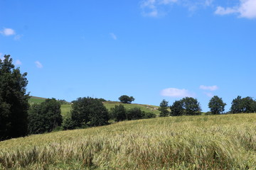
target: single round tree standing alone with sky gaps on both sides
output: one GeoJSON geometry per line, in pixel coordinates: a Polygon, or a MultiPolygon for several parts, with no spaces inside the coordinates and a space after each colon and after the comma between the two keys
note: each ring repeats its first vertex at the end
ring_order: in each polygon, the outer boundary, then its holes
{"type": "Polygon", "coordinates": [[[210,101],[208,103],[210,112],[213,115],[219,115],[220,113],[223,113],[225,111],[226,105],[227,104],[223,102],[222,98],[219,98],[218,96],[213,96],[212,98],[210,98],[210,101]]]}

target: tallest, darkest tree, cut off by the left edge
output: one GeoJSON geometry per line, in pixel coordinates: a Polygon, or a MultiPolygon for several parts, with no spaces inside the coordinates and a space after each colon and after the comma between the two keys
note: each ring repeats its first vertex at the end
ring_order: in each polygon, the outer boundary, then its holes
{"type": "Polygon", "coordinates": [[[21,74],[10,55],[0,59],[0,140],[27,135],[28,99],[27,73],[21,74]]]}

